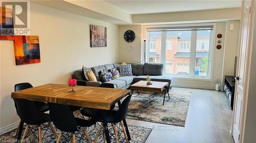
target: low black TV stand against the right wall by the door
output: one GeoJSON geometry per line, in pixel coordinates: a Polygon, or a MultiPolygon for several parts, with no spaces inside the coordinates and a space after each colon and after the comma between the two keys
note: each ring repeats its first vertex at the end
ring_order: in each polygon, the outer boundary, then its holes
{"type": "Polygon", "coordinates": [[[225,75],[224,86],[223,86],[224,93],[226,94],[228,100],[230,101],[231,110],[233,110],[234,86],[236,84],[235,82],[236,80],[233,80],[233,79],[234,79],[234,76],[225,75]]]}

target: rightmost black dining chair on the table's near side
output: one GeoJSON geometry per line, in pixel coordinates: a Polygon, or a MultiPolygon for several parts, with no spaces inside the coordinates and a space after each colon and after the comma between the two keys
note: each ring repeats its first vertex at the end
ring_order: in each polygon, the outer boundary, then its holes
{"type": "MultiPolygon", "coordinates": [[[[119,109],[117,111],[116,110],[105,110],[105,115],[104,115],[106,117],[105,122],[112,124],[112,126],[114,128],[114,131],[115,131],[116,142],[118,142],[118,133],[117,133],[117,128],[116,128],[117,123],[120,123],[120,125],[121,125],[121,128],[122,128],[122,131],[123,131],[126,142],[129,142],[129,139],[127,137],[126,130],[124,128],[124,125],[123,125],[122,121],[125,119],[126,112],[127,112],[131,97],[132,97],[132,95],[127,96],[123,100],[121,105],[119,105],[119,109]]],[[[103,122],[104,122],[103,117],[104,116],[103,116],[103,112],[98,111],[97,115],[95,115],[91,119],[92,121],[95,121],[95,122],[101,122],[100,129],[98,130],[98,132],[96,134],[96,138],[95,138],[94,142],[97,141],[100,132],[101,131],[104,132],[103,131],[103,122]]]]}

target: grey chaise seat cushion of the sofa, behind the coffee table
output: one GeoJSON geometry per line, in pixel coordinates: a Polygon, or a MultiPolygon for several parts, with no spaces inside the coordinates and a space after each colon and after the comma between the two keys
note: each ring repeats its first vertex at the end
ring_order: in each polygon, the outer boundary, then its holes
{"type": "MultiPolygon", "coordinates": [[[[133,82],[138,82],[140,80],[146,80],[146,75],[140,75],[140,76],[136,76],[133,78],[133,82]]],[[[162,81],[162,82],[169,82],[169,87],[172,86],[173,84],[173,80],[174,80],[174,76],[172,75],[153,75],[150,76],[152,81],[162,81]]]]}

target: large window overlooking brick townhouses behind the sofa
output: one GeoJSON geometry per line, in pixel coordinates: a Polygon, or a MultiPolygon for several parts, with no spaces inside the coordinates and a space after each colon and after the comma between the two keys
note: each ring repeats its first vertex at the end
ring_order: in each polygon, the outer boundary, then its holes
{"type": "Polygon", "coordinates": [[[184,29],[182,27],[173,29],[163,27],[163,30],[161,27],[147,28],[147,35],[150,36],[150,40],[147,41],[147,61],[165,64],[165,74],[211,78],[214,24],[194,25],[185,26],[184,29]],[[151,43],[154,42],[157,44],[153,51],[151,48],[154,44],[151,43]]]}

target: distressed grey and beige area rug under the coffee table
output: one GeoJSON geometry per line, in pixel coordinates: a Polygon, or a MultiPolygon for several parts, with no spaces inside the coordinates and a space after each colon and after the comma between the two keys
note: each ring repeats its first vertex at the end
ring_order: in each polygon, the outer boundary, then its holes
{"type": "Polygon", "coordinates": [[[126,114],[127,119],[140,120],[168,124],[174,126],[185,126],[191,92],[184,89],[173,88],[165,96],[164,92],[153,93],[148,91],[134,91],[129,109],[126,114]]]}

